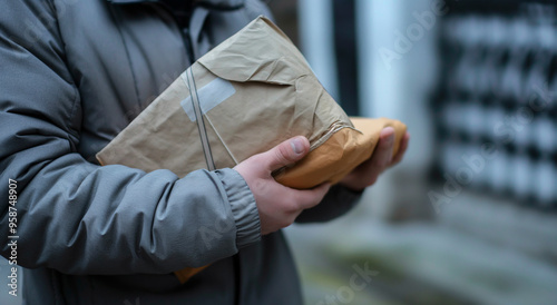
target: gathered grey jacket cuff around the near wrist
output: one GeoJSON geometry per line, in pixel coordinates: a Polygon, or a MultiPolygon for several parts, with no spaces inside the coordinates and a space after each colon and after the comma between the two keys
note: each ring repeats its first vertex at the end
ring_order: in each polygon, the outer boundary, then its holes
{"type": "Polygon", "coordinates": [[[242,248],[258,242],[261,239],[260,213],[252,190],[234,169],[219,169],[216,174],[228,196],[232,215],[236,223],[236,246],[242,248]]]}

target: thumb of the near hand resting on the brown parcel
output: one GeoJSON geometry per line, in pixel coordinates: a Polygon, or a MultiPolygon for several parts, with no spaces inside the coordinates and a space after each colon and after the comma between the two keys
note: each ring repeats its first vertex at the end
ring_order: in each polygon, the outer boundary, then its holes
{"type": "Polygon", "coordinates": [[[299,136],[261,154],[261,158],[263,166],[268,171],[274,171],[302,159],[307,152],[310,152],[310,141],[305,137],[299,136]]]}

